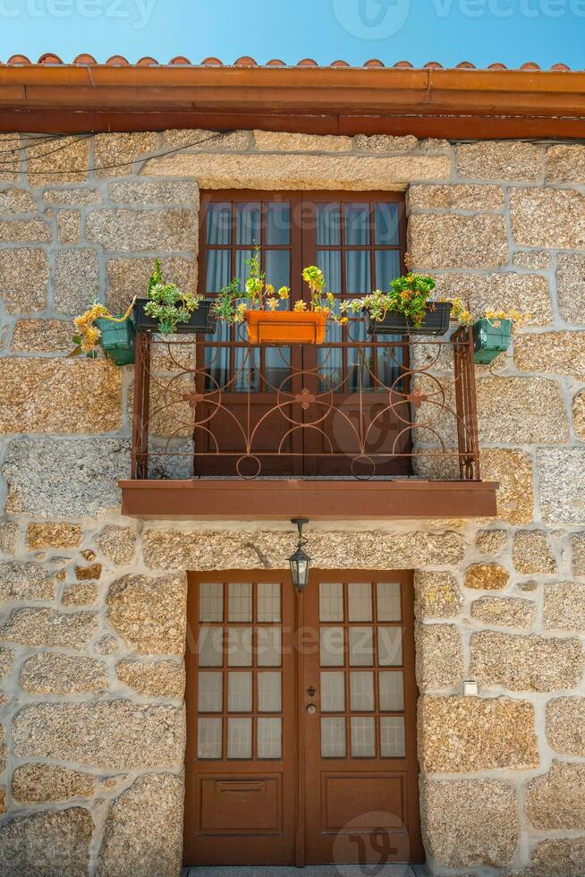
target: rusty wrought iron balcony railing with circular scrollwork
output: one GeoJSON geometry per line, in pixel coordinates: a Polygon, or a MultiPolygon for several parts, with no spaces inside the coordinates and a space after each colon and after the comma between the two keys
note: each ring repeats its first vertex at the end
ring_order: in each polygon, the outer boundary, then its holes
{"type": "Polygon", "coordinates": [[[139,334],[132,478],[270,476],[479,481],[471,329],[290,347],[139,334]]]}

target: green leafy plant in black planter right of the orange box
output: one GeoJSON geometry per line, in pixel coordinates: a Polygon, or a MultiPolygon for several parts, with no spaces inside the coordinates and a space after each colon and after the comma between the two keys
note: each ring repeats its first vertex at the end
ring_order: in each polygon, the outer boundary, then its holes
{"type": "Polygon", "coordinates": [[[428,296],[436,285],[432,277],[407,274],[392,280],[387,293],[375,289],[363,298],[343,302],[342,310],[369,311],[371,319],[376,322],[381,322],[388,311],[400,311],[415,328],[420,328],[427,311],[434,308],[433,302],[428,302],[428,296]]]}

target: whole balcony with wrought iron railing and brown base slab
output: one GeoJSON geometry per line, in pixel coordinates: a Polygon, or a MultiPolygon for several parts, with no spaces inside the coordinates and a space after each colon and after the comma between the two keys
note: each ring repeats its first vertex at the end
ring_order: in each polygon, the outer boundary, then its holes
{"type": "Polygon", "coordinates": [[[140,334],[121,486],[143,518],[495,515],[471,329],[291,347],[140,334]]]}

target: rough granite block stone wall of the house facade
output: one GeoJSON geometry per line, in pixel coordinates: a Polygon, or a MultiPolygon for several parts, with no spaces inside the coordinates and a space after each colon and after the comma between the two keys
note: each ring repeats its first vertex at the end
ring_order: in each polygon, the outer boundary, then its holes
{"type": "Polygon", "coordinates": [[[156,256],[195,284],[199,187],[408,188],[411,266],[474,307],[531,314],[478,369],[498,517],[318,524],[309,553],[417,571],[432,873],[577,877],[585,147],[212,133],[72,138],[52,155],[0,136],[0,871],[177,873],[185,570],[282,566],[293,546],[280,524],[120,517],[132,373],[64,359],[72,315],[92,294],[123,308],[156,256]]]}

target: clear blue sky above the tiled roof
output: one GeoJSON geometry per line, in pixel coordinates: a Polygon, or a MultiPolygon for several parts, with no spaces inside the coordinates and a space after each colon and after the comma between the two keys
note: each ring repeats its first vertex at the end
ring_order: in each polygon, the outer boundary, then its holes
{"type": "Polygon", "coordinates": [[[585,68],[585,0],[0,0],[0,60],[252,55],[585,68]]]}

